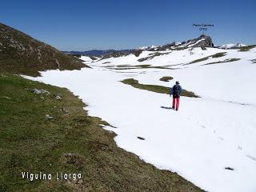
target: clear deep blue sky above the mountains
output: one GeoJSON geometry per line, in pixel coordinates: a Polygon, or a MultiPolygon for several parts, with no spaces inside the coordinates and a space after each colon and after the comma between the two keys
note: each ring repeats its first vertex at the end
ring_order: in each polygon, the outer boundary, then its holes
{"type": "Polygon", "coordinates": [[[256,44],[255,0],[2,1],[0,22],[59,50],[126,49],[197,38],[256,44]]]}

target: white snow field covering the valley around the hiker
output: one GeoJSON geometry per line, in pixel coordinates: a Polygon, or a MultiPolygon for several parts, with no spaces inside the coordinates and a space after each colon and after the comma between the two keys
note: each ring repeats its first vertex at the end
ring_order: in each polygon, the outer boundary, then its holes
{"type": "Polygon", "coordinates": [[[91,68],[26,78],[74,92],[91,116],[110,123],[105,129],[118,134],[118,146],[159,169],[211,192],[256,191],[256,48],[144,50],[138,57],[82,59],[91,68]],[[159,81],[164,76],[174,79],[159,81]],[[182,97],[179,111],[167,110],[169,95],[120,82],[126,78],[167,87],[178,80],[200,98],[182,97]]]}

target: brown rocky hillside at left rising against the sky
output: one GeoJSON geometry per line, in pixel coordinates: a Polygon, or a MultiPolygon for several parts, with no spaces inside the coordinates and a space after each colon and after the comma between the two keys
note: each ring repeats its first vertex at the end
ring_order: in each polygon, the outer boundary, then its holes
{"type": "Polygon", "coordinates": [[[40,70],[79,70],[85,66],[80,59],[0,23],[0,70],[37,76],[40,70]]]}

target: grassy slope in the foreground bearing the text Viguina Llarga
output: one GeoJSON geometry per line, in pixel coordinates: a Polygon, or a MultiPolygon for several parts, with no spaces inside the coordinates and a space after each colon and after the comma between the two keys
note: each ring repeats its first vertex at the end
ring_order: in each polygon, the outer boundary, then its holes
{"type": "Polygon", "coordinates": [[[202,191],[118,148],[115,134],[100,126],[107,123],[82,107],[66,89],[0,74],[0,191],[202,191]],[[34,88],[50,94],[34,94],[34,88]],[[30,182],[22,171],[82,178],[30,182]]]}

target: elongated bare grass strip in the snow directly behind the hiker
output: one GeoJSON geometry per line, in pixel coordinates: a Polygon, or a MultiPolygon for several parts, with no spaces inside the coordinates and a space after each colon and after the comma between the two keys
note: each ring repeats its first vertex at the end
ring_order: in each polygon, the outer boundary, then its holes
{"type": "MultiPolygon", "coordinates": [[[[149,90],[149,91],[153,91],[153,92],[159,93],[159,94],[169,94],[170,93],[169,87],[140,84],[134,78],[126,78],[126,79],[122,80],[121,82],[125,83],[127,85],[130,85],[130,86],[133,86],[135,88],[138,88],[140,90],[149,90]]],[[[199,98],[198,95],[194,94],[194,92],[187,91],[187,90],[182,90],[182,96],[190,97],[190,98],[199,98]]]]}

